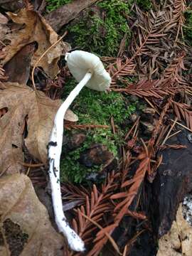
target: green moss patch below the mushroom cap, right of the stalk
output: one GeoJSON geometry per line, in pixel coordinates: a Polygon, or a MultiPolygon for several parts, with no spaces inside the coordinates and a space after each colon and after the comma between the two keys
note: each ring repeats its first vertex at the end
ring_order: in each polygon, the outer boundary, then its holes
{"type": "MultiPolygon", "coordinates": [[[[63,99],[67,97],[75,85],[77,85],[77,82],[73,78],[65,84],[63,99]]],[[[80,154],[92,144],[103,144],[115,157],[118,157],[118,147],[124,143],[124,132],[121,125],[129,118],[130,114],[135,112],[137,105],[137,102],[131,105],[127,105],[126,102],[127,98],[117,92],[96,92],[86,87],[83,88],[80,95],[73,102],[72,107],[70,107],[75,114],[78,114],[78,124],[102,124],[108,125],[110,128],[86,131],[86,139],[82,146],[65,154],[61,161],[61,181],[80,183],[88,173],[99,171],[102,168],[102,166],[87,168],[78,161],[80,154]],[[117,134],[112,133],[111,117],[113,117],[114,124],[117,127],[117,134]]]]}

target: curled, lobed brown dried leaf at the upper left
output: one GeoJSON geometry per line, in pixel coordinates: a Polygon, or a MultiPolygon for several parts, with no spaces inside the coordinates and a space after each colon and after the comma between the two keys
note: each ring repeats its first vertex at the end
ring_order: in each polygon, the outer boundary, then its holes
{"type": "MultiPolygon", "coordinates": [[[[21,9],[18,14],[9,12],[8,15],[15,23],[25,24],[25,26],[20,30],[12,31],[11,35],[9,35],[11,43],[4,48],[6,57],[2,60],[2,64],[4,65],[11,60],[23,46],[36,41],[38,43],[38,50],[36,50],[31,60],[31,65],[33,66],[41,55],[58,40],[58,34],[53,31],[48,23],[46,23],[46,20],[36,11],[21,9]]],[[[68,46],[58,43],[38,63],[38,66],[42,67],[50,78],[54,78],[58,74],[58,60],[63,50],[66,52],[68,46]]]]}

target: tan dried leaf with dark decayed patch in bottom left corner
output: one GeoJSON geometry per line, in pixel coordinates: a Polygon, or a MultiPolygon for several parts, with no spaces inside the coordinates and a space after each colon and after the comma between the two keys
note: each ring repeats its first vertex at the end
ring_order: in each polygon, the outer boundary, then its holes
{"type": "Polygon", "coordinates": [[[0,215],[1,256],[63,255],[64,238],[50,224],[27,176],[0,179],[0,215]]]}

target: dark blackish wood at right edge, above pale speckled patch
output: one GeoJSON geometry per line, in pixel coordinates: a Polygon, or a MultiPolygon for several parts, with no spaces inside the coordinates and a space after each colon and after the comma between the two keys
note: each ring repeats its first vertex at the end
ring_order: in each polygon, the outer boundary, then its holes
{"type": "Polygon", "coordinates": [[[179,203],[192,190],[192,143],[188,140],[188,134],[183,129],[166,142],[184,145],[186,149],[160,151],[163,161],[152,184],[153,199],[150,203],[154,230],[159,237],[170,230],[179,203]]]}

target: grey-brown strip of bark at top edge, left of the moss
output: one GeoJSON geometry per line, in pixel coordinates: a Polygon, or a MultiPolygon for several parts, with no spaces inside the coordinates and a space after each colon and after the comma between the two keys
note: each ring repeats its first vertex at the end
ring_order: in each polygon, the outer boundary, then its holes
{"type": "Polygon", "coordinates": [[[50,26],[58,32],[65,24],[73,20],[80,11],[87,6],[94,4],[98,0],[75,0],[70,4],[65,4],[55,11],[51,11],[45,16],[50,26]]]}

